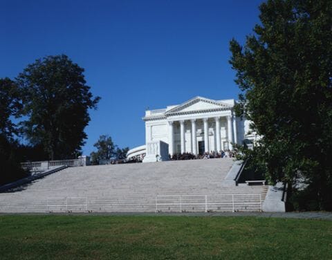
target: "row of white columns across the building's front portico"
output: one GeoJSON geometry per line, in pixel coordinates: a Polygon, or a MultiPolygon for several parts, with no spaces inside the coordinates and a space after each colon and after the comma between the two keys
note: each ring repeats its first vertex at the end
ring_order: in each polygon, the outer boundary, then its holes
{"type": "MultiPolygon", "coordinates": [[[[204,123],[204,150],[210,152],[209,142],[209,118],[203,118],[204,123]]],[[[216,122],[216,151],[221,151],[221,131],[220,131],[220,117],[214,118],[216,122]]],[[[197,140],[196,140],[196,119],[190,120],[192,122],[192,154],[198,154],[197,151],[197,140]]],[[[181,140],[181,154],[185,152],[185,120],[180,120],[180,140],[181,140]]],[[[227,116],[227,136],[228,136],[228,147],[232,149],[231,142],[237,142],[237,122],[235,117],[232,115],[227,116]],[[234,129],[234,139],[233,139],[234,129]]],[[[174,122],[169,121],[169,154],[174,154],[174,122]]]]}

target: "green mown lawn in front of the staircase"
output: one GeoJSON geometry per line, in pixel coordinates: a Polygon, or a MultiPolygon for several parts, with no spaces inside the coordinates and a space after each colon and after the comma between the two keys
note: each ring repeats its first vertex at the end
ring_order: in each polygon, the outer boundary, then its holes
{"type": "Polygon", "coordinates": [[[6,215],[0,259],[332,259],[332,221],[6,215]]]}

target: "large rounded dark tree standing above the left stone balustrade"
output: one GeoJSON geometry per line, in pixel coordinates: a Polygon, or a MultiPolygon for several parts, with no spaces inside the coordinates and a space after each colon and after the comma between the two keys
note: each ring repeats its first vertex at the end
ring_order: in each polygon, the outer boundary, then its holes
{"type": "Polygon", "coordinates": [[[73,158],[87,137],[89,109],[96,109],[100,97],[93,97],[83,73],[66,55],[57,55],[37,59],[17,77],[28,117],[22,129],[51,160],[73,158]]]}

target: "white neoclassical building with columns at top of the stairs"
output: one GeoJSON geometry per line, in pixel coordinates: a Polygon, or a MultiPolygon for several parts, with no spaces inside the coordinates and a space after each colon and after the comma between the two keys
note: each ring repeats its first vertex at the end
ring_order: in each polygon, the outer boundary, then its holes
{"type": "Polygon", "coordinates": [[[235,100],[194,97],[165,109],[147,110],[145,146],[131,149],[128,157],[149,154],[150,148],[150,154],[160,155],[162,151],[156,147],[160,141],[168,145],[167,154],[220,152],[231,150],[232,143],[250,142],[255,138],[250,134],[250,122],[234,115],[234,104],[235,100]]]}

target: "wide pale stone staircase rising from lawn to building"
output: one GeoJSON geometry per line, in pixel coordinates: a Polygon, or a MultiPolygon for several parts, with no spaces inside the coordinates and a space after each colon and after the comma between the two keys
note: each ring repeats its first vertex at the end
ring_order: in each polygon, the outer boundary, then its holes
{"type": "Polygon", "coordinates": [[[225,186],[231,158],[71,167],[0,193],[0,212],[260,211],[266,186],[225,186]]]}

